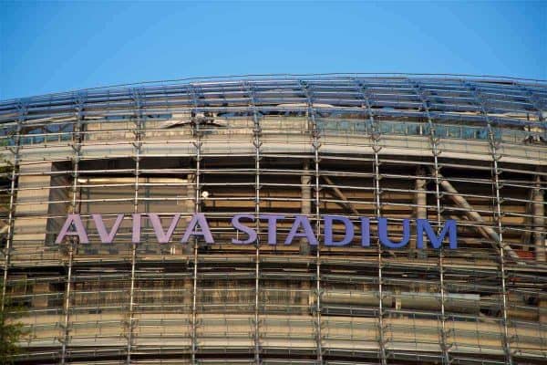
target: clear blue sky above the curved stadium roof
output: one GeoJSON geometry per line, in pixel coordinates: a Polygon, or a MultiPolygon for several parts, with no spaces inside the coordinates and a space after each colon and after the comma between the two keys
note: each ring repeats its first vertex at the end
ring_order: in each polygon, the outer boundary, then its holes
{"type": "Polygon", "coordinates": [[[264,73],[547,79],[543,2],[5,2],[0,99],[264,73]]]}

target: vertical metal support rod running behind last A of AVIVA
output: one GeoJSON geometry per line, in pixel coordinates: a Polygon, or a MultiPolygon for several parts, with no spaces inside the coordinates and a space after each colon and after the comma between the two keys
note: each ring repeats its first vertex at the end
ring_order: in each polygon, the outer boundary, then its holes
{"type": "MultiPolygon", "coordinates": [[[[196,151],[196,170],[195,170],[195,185],[194,185],[194,212],[201,212],[201,120],[196,117],[198,111],[198,99],[196,95],[196,90],[193,85],[191,85],[191,96],[193,100],[194,108],[191,111],[191,126],[193,127],[193,136],[194,149],[196,151]]],[[[197,332],[197,304],[198,304],[198,259],[199,259],[199,245],[198,239],[193,239],[193,274],[192,274],[192,292],[191,292],[191,363],[196,363],[196,353],[198,348],[198,332],[197,332]]]]}

